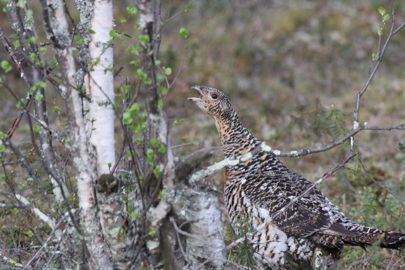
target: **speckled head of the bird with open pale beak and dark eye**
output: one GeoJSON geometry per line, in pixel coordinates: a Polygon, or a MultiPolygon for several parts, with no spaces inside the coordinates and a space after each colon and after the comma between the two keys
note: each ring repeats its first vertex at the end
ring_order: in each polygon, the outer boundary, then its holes
{"type": "Polygon", "coordinates": [[[191,88],[198,92],[198,98],[188,98],[188,100],[197,104],[201,110],[214,117],[214,119],[224,119],[235,114],[228,98],[221,91],[198,85],[191,88]]]}

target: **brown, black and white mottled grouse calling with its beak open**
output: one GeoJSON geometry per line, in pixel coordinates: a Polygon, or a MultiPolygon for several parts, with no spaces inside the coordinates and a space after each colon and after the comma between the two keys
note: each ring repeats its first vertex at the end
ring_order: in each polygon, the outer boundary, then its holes
{"type": "MultiPolygon", "coordinates": [[[[226,158],[242,156],[262,142],[239,121],[228,98],[215,88],[192,86],[198,98],[188,98],[212,116],[226,158]]],[[[244,163],[225,168],[224,198],[235,231],[248,220],[260,228],[270,216],[312,185],[273,154],[259,152],[244,163]]],[[[316,187],[249,239],[253,255],[266,268],[310,267],[315,249],[338,260],[344,245],[365,248],[380,241],[383,248],[401,250],[405,234],[361,226],[348,219],[316,187]]]]}

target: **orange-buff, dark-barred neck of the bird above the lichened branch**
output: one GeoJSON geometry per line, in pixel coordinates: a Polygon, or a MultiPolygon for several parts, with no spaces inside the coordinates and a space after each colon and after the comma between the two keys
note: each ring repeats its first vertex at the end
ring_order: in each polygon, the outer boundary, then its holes
{"type": "Polygon", "coordinates": [[[226,158],[244,155],[261,143],[240,123],[236,112],[214,119],[226,158]]]}

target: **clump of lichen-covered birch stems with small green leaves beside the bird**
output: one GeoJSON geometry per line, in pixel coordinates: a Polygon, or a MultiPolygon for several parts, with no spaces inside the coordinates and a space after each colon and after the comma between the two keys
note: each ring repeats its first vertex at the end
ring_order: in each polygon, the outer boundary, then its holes
{"type": "MultiPolygon", "coordinates": [[[[138,28],[130,34],[114,29],[111,0],[41,4],[37,9],[31,2],[9,0],[3,7],[11,32],[1,32],[9,54],[2,67],[5,73],[20,73],[27,97],[20,98],[8,77],[3,78],[21,111],[8,134],[1,133],[1,161],[10,189],[1,191],[10,201],[1,207],[22,211],[37,224],[29,226],[35,240],[26,255],[2,251],[6,265],[91,269],[221,265],[225,245],[218,198],[198,189],[190,193],[187,183],[180,181],[204,158],[178,162],[180,169],[175,169],[163,100],[171,86],[167,77],[171,69],[158,59],[165,23],[161,2],[134,1],[127,7],[127,19],[137,21],[138,28]],[[43,21],[34,21],[34,12],[41,12],[43,21]],[[78,23],[73,19],[77,13],[78,23]],[[46,36],[38,35],[40,27],[46,36]],[[134,84],[121,79],[122,68],[114,66],[114,44],[124,38],[139,78],[134,84]],[[118,89],[114,78],[121,80],[118,89]],[[145,97],[144,103],[139,96],[145,97]],[[50,103],[64,128],[48,120],[50,103]],[[115,123],[122,134],[118,150],[115,123]],[[25,125],[32,146],[28,157],[13,139],[25,125]],[[29,175],[18,182],[18,189],[13,188],[16,169],[29,175]],[[27,182],[44,202],[36,204],[33,197],[25,197],[27,182]],[[197,197],[208,208],[195,205],[197,197]],[[186,212],[184,205],[189,208],[186,212]],[[210,236],[201,246],[203,228],[210,236]]],[[[187,38],[184,31],[182,38],[187,38]]]]}

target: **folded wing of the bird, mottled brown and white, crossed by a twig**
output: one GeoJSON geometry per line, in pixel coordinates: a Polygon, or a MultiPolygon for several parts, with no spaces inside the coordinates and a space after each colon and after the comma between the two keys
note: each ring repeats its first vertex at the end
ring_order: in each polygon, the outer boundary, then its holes
{"type": "MultiPolygon", "coordinates": [[[[290,176],[299,175],[294,173],[290,176]]],[[[253,205],[268,210],[271,216],[304,191],[300,188],[302,185],[297,185],[297,181],[302,179],[290,176],[260,171],[252,173],[242,184],[242,190],[253,205]]],[[[325,196],[315,188],[282,212],[272,223],[287,235],[307,237],[331,228],[334,220],[329,206],[325,196]]]]}

